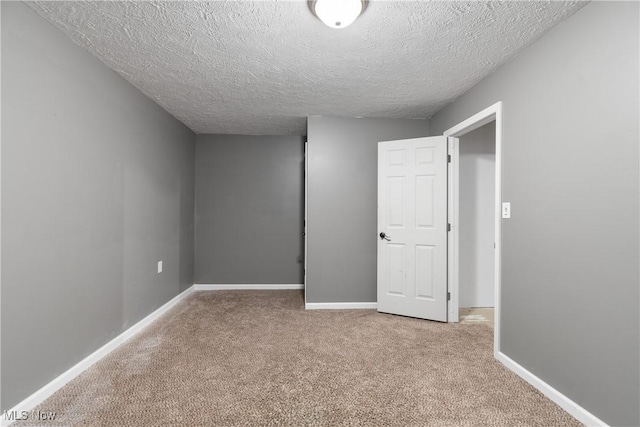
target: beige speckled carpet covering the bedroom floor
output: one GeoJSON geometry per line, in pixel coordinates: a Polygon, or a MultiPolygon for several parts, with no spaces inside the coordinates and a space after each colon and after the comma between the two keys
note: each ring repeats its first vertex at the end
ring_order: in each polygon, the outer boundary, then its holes
{"type": "Polygon", "coordinates": [[[578,426],[492,357],[492,329],[197,292],[41,411],[64,426],[578,426]]]}

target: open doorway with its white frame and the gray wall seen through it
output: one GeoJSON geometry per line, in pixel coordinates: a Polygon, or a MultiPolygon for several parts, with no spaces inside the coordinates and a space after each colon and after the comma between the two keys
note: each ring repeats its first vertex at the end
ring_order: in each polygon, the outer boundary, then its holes
{"type": "Polygon", "coordinates": [[[494,355],[500,350],[502,102],[444,132],[449,137],[448,306],[493,305],[494,355]],[[492,179],[493,178],[493,179],[492,179]],[[492,285],[492,286],[491,286],[492,285]],[[491,296],[493,294],[493,296],[491,296]]]}

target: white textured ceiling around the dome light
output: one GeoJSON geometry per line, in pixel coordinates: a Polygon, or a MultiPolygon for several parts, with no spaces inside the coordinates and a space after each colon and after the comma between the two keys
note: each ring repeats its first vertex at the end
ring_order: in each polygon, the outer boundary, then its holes
{"type": "Polygon", "coordinates": [[[306,117],[428,118],[579,1],[371,0],[330,29],[306,1],[37,1],[197,133],[306,133],[306,117]]]}

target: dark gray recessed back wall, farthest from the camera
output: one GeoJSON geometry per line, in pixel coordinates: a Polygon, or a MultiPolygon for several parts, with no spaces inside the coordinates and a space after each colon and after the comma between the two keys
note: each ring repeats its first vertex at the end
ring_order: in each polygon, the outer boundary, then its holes
{"type": "Polygon", "coordinates": [[[198,135],[196,153],[196,283],[303,283],[304,138],[198,135]]]}

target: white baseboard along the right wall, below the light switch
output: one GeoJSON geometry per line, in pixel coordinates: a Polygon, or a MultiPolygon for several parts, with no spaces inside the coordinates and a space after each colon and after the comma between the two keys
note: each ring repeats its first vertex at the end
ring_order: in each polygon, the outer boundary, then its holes
{"type": "Polygon", "coordinates": [[[529,372],[522,365],[519,365],[517,362],[509,358],[509,356],[499,352],[497,355],[497,359],[502,362],[504,366],[511,369],[520,378],[538,389],[538,391],[555,402],[558,406],[567,411],[569,414],[571,414],[572,417],[574,417],[581,423],[586,424],[587,426],[607,426],[604,421],[602,421],[601,419],[575,403],[573,400],[569,399],[567,396],[560,393],[558,390],[551,387],[549,384],[529,372]]]}

